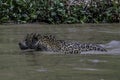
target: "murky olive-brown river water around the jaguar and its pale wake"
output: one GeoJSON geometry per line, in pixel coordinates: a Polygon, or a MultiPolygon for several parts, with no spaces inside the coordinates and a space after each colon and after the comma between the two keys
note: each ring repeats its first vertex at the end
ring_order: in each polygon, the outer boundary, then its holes
{"type": "Polygon", "coordinates": [[[113,39],[120,40],[119,26],[0,25],[0,80],[120,80],[120,55],[46,54],[24,52],[18,47],[18,42],[28,32],[53,33],[60,39],[107,43],[113,39]]]}

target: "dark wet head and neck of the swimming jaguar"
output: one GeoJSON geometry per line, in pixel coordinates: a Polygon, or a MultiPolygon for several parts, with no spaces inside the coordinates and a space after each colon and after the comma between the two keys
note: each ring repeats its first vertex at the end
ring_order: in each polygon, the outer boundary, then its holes
{"type": "Polygon", "coordinates": [[[35,49],[39,51],[47,51],[55,40],[55,36],[50,34],[27,34],[25,39],[19,42],[21,50],[35,49]]]}

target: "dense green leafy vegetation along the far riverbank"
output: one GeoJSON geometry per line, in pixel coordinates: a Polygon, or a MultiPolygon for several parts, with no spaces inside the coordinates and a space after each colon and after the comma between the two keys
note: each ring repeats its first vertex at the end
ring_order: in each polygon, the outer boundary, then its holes
{"type": "Polygon", "coordinates": [[[0,23],[119,23],[117,0],[67,4],[67,0],[0,0],[0,23]]]}

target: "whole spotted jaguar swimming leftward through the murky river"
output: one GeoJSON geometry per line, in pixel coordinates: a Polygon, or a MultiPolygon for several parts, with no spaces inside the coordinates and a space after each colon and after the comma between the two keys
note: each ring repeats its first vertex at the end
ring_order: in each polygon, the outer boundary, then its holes
{"type": "Polygon", "coordinates": [[[71,40],[58,40],[50,34],[30,33],[19,42],[21,50],[33,49],[35,51],[61,52],[65,54],[79,54],[84,51],[106,52],[99,44],[81,43],[71,40]]]}

